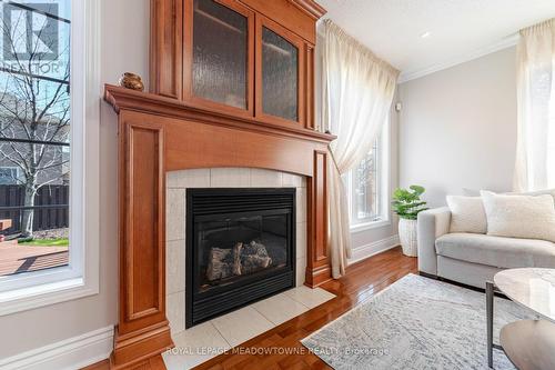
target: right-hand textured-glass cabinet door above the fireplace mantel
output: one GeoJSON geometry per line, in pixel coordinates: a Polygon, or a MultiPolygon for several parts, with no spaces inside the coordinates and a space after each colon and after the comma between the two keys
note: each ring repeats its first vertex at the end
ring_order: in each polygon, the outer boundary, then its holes
{"type": "Polygon", "coordinates": [[[303,43],[268,19],[258,26],[258,114],[271,121],[302,121],[303,43]]]}

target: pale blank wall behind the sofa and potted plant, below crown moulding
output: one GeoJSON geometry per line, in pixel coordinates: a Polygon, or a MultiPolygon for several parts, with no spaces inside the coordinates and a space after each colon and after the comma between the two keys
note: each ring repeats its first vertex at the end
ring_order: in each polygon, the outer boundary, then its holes
{"type": "Polygon", "coordinates": [[[424,186],[431,206],[463,188],[512,189],[514,47],[402,83],[398,93],[401,186],[424,186]]]}

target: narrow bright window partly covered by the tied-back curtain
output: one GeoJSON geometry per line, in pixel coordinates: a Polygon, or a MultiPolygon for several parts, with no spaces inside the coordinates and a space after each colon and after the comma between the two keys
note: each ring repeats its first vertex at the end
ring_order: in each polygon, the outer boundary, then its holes
{"type": "Polygon", "coordinates": [[[344,174],[349,213],[353,230],[389,221],[389,124],[372,150],[353,170],[344,174]]]}

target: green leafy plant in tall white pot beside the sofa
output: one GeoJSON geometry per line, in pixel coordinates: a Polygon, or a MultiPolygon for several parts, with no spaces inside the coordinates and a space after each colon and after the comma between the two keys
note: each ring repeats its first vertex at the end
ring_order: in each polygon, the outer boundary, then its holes
{"type": "Polygon", "coordinates": [[[425,189],[420,186],[411,186],[408,189],[396,189],[393,192],[393,211],[400,217],[398,239],[405,256],[417,256],[416,219],[418,213],[426,210],[426,202],[420,196],[425,189]]]}

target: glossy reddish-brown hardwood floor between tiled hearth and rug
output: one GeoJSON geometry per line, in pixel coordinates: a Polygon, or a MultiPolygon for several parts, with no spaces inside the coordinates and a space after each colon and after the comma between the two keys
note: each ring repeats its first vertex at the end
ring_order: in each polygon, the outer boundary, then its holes
{"type": "MultiPolygon", "coordinates": [[[[347,268],[347,274],[322,286],[334,293],[334,299],[321,304],[281,326],[255,337],[242,346],[202,363],[199,370],[280,370],[331,369],[310,353],[301,339],[335,320],[359,303],[387,288],[407,273],[417,273],[415,258],[405,257],[401,248],[394,248],[347,268]],[[244,353],[253,351],[256,353],[244,353]],[[242,351],[242,352],[241,352],[242,351]],[[261,353],[261,352],[264,353],[261,353]]],[[[160,361],[157,362],[160,366],[160,361]]],[[[150,364],[150,369],[163,369],[150,364]]],[[[91,368],[103,370],[105,367],[91,368]]],[[[140,369],[149,369],[141,367],[140,369]]]]}

